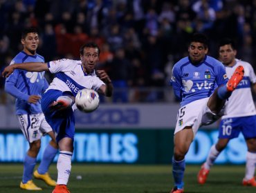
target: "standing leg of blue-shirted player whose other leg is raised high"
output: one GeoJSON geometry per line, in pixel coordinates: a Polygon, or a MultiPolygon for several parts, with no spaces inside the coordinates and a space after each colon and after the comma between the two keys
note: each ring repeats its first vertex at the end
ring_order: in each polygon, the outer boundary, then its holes
{"type": "Polygon", "coordinates": [[[192,127],[185,127],[174,135],[174,157],[172,159],[172,175],[174,188],[172,192],[183,192],[183,176],[185,172],[185,154],[194,139],[192,127]]]}

